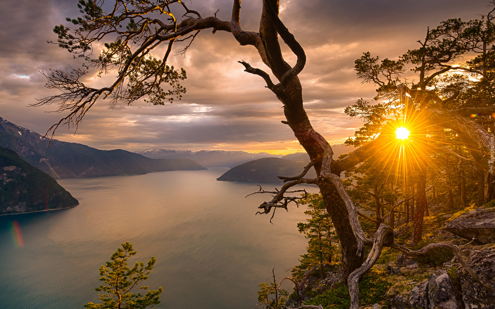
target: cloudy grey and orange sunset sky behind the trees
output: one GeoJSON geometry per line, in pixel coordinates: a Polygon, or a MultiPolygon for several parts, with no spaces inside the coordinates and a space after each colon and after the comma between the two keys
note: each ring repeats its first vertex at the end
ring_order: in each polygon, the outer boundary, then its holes
{"type": "MultiPolygon", "coordinates": [[[[188,0],[189,2],[189,0],[188,0]]],[[[427,27],[448,18],[474,19],[486,14],[486,0],[281,0],[281,19],[306,52],[299,74],[306,111],[315,129],[331,144],[341,144],[361,126],[344,108],[357,99],[370,100],[373,85],[361,85],[353,71],[363,52],[397,59],[418,47],[427,27]]],[[[55,44],[54,25],[79,15],[77,0],[0,0],[0,117],[44,134],[64,114],[56,106],[28,107],[53,95],[40,71],[79,66],[81,61],[55,44]]],[[[203,17],[230,19],[230,0],[191,0],[189,8],[203,17]]],[[[241,26],[257,31],[261,0],[244,0],[241,26]]],[[[181,46],[176,45],[180,50],[181,46]]],[[[159,54],[156,56],[160,57],[159,54]]],[[[295,57],[285,50],[286,60],[295,57]]],[[[61,127],[56,139],[99,149],[244,150],[288,154],[301,151],[285,120],[282,104],[258,76],[244,72],[245,60],[265,68],[254,47],[239,46],[229,33],[202,31],[187,54],[169,58],[186,69],[187,93],[181,101],[149,106],[99,101],[74,134],[61,127]]],[[[113,77],[113,76],[110,76],[113,77]]],[[[274,80],[274,79],[273,79],[274,80]]],[[[90,71],[88,82],[105,87],[109,78],[90,71]]]]}

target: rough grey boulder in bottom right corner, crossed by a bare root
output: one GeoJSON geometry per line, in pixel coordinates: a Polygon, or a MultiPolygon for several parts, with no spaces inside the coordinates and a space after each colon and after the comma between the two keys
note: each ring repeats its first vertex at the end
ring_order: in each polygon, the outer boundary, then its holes
{"type": "MultiPolygon", "coordinates": [[[[495,289],[495,245],[485,248],[468,261],[482,280],[495,289]]],[[[488,292],[462,268],[457,270],[465,309],[495,309],[495,293],[488,292]]]]}

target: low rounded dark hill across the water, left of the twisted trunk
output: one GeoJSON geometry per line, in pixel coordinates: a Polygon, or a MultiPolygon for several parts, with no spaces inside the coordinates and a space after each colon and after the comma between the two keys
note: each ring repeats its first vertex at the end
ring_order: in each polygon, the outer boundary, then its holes
{"type": "Polygon", "coordinates": [[[305,165],[302,162],[280,158],[261,158],[238,165],[217,180],[281,183],[282,179],[277,176],[297,176],[305,165]]]}

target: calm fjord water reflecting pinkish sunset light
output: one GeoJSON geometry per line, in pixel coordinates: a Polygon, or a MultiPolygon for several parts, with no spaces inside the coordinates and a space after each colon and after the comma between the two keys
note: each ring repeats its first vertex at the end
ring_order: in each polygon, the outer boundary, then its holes
{"type": "Polygon", "coordinates": [[[271,197],[244,198],[256,184],[216,181],[225,171],[59,179],[81,205],[0,216],[0,308],[73,309],[98,302],[99,266],[125,241],[138,251],[129,264],[157,259],[146,281],[163,287],[157,308],[253,308],[258,283],[271,269],[279,278],[290,275],[305,253],[307,241],[296,227],[305,207],[278,209],[272,225],[268,216],[254,216],[271,197]]]}

